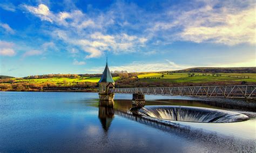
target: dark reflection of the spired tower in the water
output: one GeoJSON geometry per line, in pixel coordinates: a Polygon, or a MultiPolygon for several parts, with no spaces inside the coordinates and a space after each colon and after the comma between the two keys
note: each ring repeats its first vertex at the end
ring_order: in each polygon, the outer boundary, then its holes
{"type": "Polygon", "coordinates": [[[114,117],[113,101],[99,101],[99,120],[105,131],[109,130],[114,117]]]}

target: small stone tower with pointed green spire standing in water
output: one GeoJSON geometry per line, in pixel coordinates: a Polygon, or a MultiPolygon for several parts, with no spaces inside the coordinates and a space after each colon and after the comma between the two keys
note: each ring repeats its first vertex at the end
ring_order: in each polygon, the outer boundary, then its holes
{"type": "Polygon", "coordinates": [[[112,79],[109,67],[107,66],[104,69],[102,78],[99,80],[99,99],[105,101],[112,101],[114,99],[114,94],[109,93],[110,88],[114,88],[114,80],[112,79]]]}

